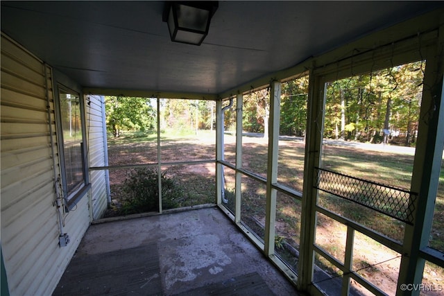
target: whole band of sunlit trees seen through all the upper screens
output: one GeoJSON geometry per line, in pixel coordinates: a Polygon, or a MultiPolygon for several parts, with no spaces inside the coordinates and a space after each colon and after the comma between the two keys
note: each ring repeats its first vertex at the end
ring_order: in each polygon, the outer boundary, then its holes
{"type": "MultiPolygon", "coordinates": [[[[372,73],[327,82],[325,137],[377,143],[384,129],[393,143],[414,145],[418,130],[425,62],[402,64],[372,73]],[[396,141],[395,141],[396,140],[396,141]]],[[[307,125],[308,76],[282,83],[280,134],[303,137],[307,125]]],[[[246,132],[267,132],[269,89],[244,96],[242,124],[246,132]]],[[[105,99],[109,132],[149,132],[156,125],[155,99],[108,96],[105,99]]],[[[224,104],[225,105],[225,104],[224,104]]],[[[160,99],[160,128],[173,134],[196,134],[215,123],[214,101],[160,99]]],[[[225,130],[236,125],[236,102],[224,113],[225,130]]]]}

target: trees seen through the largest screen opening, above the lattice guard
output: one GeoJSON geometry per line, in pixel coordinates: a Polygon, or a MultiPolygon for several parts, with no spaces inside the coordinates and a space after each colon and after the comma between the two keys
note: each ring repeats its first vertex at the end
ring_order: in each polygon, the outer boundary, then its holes
{"type": "Polygon", "coordinates": [[[394,142],[413,145],[423,69],[419,61],[327,82],[325,137],[377,143],[385,128],[402,139],[394,142]]]}

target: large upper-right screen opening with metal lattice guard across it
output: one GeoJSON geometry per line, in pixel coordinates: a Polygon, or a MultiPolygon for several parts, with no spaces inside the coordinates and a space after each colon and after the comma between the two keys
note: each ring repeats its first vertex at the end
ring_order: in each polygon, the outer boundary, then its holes
{"type": "Polygon", "coordinates": [[[324,190],[341,198],[323,193],[319,204],[397,241],[413,219],[404,191],[416,151],[421,69],[424,61],[325,85],[319,174],[324,190]]]}

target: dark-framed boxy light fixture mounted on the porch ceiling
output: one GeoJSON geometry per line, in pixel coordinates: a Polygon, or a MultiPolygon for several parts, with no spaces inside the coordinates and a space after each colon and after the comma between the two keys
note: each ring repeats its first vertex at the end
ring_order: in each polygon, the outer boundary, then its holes
{"type": "Polygon", "coordinates": [[[219,1],[166,1],[162,20],[168,24],[171,41],[202,44],[218,7],[219,1]]]}

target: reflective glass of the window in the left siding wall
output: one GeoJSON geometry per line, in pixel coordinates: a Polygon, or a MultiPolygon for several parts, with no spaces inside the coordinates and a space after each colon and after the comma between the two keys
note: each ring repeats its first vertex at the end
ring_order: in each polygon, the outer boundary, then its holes
{"type": "Polygon", "coordinates": [[[60,114],[68,196],[84,184],[83,134],[80,110],[79,96],[60,89],[60,114]]]}

